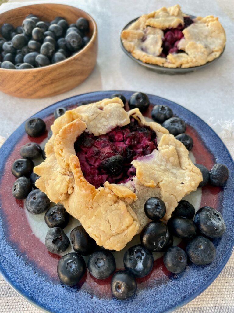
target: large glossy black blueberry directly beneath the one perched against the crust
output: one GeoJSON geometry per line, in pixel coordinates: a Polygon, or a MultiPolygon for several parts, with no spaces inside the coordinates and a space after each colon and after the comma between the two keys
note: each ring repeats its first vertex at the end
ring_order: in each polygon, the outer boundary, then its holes
{"type": "Polygon", "coordinates": [[[143,228],[140,239],[146,249],[160,252],[169,242],[169,229],[162,221],[150,222],[143,228]]]}

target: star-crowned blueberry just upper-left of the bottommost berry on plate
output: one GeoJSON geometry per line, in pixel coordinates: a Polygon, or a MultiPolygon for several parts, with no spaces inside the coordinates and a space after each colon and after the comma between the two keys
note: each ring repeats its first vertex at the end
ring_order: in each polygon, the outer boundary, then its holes
{"type": "Polygon", "coordinates": [[[88,260],[90,274],[97,279],[109,277],[116,269],[114,255],[107,250],[98,250],[88,260]]]}

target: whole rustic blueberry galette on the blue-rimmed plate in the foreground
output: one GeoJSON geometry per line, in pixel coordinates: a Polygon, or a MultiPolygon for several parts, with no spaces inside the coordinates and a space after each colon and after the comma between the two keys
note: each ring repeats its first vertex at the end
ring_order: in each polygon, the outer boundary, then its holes
{"type": "Polygon", "coordinates": [[[170,218],[197,189],[200,170],[185,146],[119,98],[68,110],[51,126],[36,186],[62,203],[96,243],[120,250],[149,222],[144,203],[160,197],[170,218]]]}

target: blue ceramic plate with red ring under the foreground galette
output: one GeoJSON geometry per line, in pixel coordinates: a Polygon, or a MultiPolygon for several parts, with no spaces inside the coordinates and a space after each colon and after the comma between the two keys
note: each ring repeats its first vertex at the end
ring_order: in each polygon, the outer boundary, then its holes
{"type": "MultiPolygon", "coordinates": [[[[126,99],[132,91],[100,91],[78,95],[57,102],[35,116],[46,121],[47,131],[54,121],[53,112],[57,107],[73,108],[81,101],[95,102],[110,97],[114,92],[122,93],[126,99]]],[[[209,169],[215,162],[224,163],[230,170],[230,177],[224,188],[207,185],[190,195],[190,201],[196,209],[203,205],[211,205],[222,216],[227,231],[220,239],[214,240],[217,249],[215,260],[206,266],[188,263],[186,269],[173,275],[164,267],[162,254],[154,254],[154,267],[151,274],[137,279],[137,295],[127,300],[113,299],[110,293],[110,278],[96,280],[88,272],[79,285],[68,287],[57,278],[56,266],[61,255],[51,254],[43,243],[45,228],[44,216],[32,216],[24,209],[24,202],[12,197],[11,189],[15,177],[11,174],[11,166],[20,157],[19,148],[28,141],[36,141],[42,146],[47,134],[31,138],[24,131],[22,124],[4,143],[0,152],[0,271],[5,280],[25,299],[46,312],[171,312],[188,303],[204,289],[220,273],[229,259],[234,244],[234,165],[233,160],[216,133],[199,117],[182,106],[154,96],[148,95],[150,107],[144,115],[150,117],[153,105],[168,105],[175,115],[187,123],[186,132],[193,137],[194,147],[191,157],[193,161],[202,163],[209,169]]],[[[128,109],[128,105],[126,105],[128,109]]],[[[188,198],[187,198],[188,199],[188,198]]],[[[76,220],[71,220],[65,228],[69,233],[75,227],[76,220]]],[[[129,245],[139,240],[135,237],[129,245]]],[[[184,243],[178,243],[184,247],[184,243]]],[[[67,253],[67,251],[66,251],[67,253]]],[[[117,253],[118,254],[118,253],[117,253]]],[[[119,254],[115,255],[118,259],[119,254]]],[[[118,268],[121,262],[118,261],[118,268]]]]}

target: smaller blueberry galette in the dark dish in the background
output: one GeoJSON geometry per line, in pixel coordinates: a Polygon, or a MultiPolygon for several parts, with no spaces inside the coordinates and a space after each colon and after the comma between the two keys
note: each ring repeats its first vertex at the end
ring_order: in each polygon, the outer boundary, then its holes
{"type": "Polygon", "coordinates": [[[190,18],[177,4],[142,15],[121,34],[124,48],[144,63],[188,68],[223,51],[225,31],[212,15],[190,18]]]}

